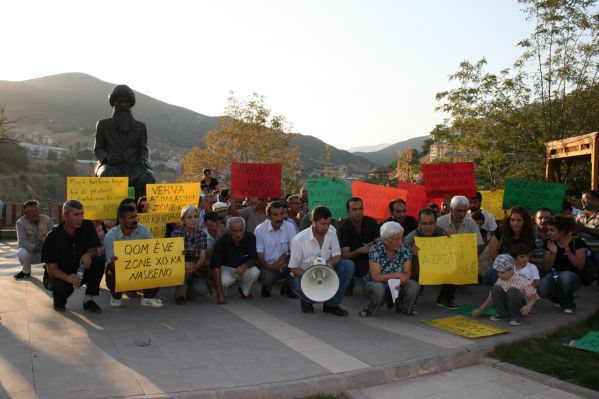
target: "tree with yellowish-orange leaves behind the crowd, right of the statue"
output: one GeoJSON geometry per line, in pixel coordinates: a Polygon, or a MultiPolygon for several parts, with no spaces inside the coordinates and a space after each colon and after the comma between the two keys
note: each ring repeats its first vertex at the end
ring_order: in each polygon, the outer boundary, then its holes
{"type": "Polygon", "coordinates": [[[299,188],[301,162],[299,149],[290,146],[290,129],[283,116],[271,115],[264,96],[253,93],[239,100],[231,93],[219,127],[204,136],[205,147],[185,156],[181,180],[199,181],[204,168],[228,180],[232,162],[281,163],[283,189],[293,192],[299,188]]]}

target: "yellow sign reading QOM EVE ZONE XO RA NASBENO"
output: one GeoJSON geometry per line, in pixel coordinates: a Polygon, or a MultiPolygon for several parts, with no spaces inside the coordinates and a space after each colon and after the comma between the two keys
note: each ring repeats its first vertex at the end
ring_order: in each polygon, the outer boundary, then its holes
{"type": "Polygon", "coordinates": [[[182,285],[183,237],[114,242],[116,291],[182,285]]]}

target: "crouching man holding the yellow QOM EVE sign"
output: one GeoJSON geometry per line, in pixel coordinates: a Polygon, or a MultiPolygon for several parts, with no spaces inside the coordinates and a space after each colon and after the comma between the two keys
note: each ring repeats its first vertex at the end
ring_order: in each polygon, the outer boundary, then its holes
{"type": "MultiPolygon", "coordinates": [[[[123,306],[123,293],[115,292],[116,289],[116,273],[115,262],[118,260],[114,256],[114,242],[122,240],[147,240],[151,239],[152,233],[143,224],[137,220],[137,209],[133,205],[121,205],[117,210],[117,218],[119,224],[114,226],[104,238],[104,249],[106,253],[106,286],[110,290],[110,306],[120,308],[123,306]]],[[[159,298],[158,288],[150,288],[143,290],[144,296],[141,298],[141,306],[151,308],[161,308],[164,306],[159,298]]]]}

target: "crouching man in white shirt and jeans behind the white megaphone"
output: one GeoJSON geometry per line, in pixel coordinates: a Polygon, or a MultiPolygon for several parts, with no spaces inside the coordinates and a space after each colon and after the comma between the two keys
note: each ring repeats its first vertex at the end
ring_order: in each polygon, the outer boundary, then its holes
{"type": "Polygon", "coordinates": [[[339,276],[339,288],[335,295],[323,305],[323,312],[335,316],[347,316],[342,309],[341,302],[345,290],[354,275],[354,263],[349,259],[341,260],[341,248],[335,228],[331,226],[331,211],[318,206],[312,211],[312,225],[301,231],[291,242],[291,255],[289,258],[289,271],[293,275],[291,286],[296,295],[300,297],[302,312],[314,313],[314,301],[307,298],[302,292],[301,278],[304,271],[312,266],[317,256],[322,257],[327,266],[332,267],[339,276]]]}

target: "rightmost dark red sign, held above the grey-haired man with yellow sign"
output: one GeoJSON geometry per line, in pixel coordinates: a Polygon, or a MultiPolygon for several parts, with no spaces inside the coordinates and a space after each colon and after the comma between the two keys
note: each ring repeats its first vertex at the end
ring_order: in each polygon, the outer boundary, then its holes
{"type": "Polygon", "coordinates": [[[430,198],[447,195],[476,195],[473,162],[427,163],[422,165],[424,188],[430,198]]]}

